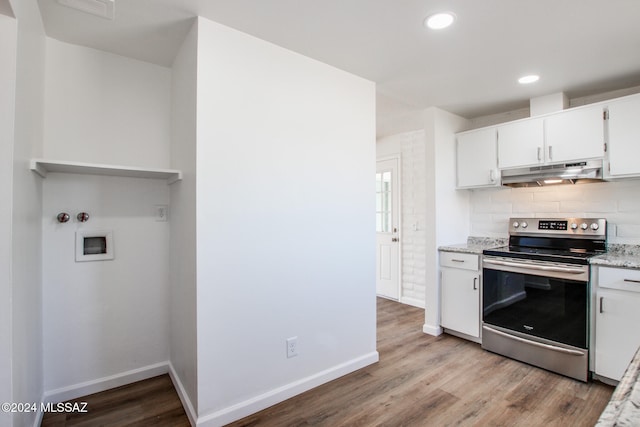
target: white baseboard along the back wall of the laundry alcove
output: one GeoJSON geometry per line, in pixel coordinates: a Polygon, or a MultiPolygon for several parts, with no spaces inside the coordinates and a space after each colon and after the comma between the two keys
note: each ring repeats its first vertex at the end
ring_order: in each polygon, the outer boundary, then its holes
{"type": "Polygon", "coordinates": [[[88,394],[99,393],[122,385],[131,384],[136,381],[146,380],[147,378],[156,377],[166,374],[167,372],[169,372],[169,362],[155,363],[108,377],[72,384],[54,390],[47,390],[42,396],[42,401],[44,403],[64,402],[88,394]]]}

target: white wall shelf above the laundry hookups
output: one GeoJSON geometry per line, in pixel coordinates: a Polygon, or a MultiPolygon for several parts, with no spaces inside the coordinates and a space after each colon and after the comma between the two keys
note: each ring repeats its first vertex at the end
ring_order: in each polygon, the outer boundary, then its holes
{"type": "Polygon", "coordinates": [[[169,185],[182,180],[182,171],[175,169],[137,168],[122,165],[102,165],[60,160],[32,159],[30,169],[43,178],[46,178],[49,172],[62,172],[84,175],[166,179],[169,185]]]}

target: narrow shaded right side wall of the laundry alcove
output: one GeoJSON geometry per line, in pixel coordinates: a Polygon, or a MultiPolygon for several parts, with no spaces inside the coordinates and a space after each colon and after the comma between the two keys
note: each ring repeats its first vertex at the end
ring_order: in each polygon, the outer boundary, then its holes
{"type": "Polygon", "coordinates": [[[172,376],[188,415],[197,417],[196,342],[196,45],[197,22],[172,68],[171,167],[183,180],[171,186],[170,319],[172,376]]]}

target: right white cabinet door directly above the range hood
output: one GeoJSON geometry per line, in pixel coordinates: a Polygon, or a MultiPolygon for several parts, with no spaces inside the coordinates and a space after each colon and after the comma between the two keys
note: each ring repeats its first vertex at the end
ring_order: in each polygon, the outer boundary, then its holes
{"type": "Polygon", "coordinates": [[[604,108],[602,105],[567,110],[545,118],[547,162],[604,157],[604,108]]]}

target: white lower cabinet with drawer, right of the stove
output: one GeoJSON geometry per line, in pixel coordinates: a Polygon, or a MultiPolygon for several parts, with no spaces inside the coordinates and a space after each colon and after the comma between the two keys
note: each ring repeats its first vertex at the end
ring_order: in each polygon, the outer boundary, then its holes
{"type": "Polygon", "coordinates": [[[640,271],[598,267],[596,283],[594,372],[620,381],[640,346],[640,271]]]}

